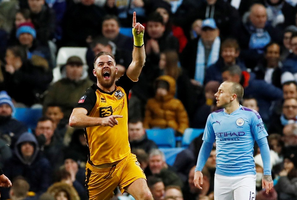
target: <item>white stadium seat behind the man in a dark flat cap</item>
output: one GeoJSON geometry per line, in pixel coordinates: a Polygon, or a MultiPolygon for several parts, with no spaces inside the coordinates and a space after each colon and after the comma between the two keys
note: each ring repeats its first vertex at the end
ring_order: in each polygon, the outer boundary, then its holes
{"type": "Polygon", "coordinates": [[[86,47],[61,47],[59,48],[56,66],[53,69],[53,83],[61,79],[61,66],[66,64],[67,59],[70,56],[79,56],[84,63],[83,67],[88,69],[87,61],[85,59],[88,48],[86,47]]]}

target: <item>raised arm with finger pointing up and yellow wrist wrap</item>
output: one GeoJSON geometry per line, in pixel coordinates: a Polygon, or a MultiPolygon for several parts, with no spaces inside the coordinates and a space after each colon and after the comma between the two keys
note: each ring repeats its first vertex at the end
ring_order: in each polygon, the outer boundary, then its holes
{"type": "Polygon", "coordinates": [[[140,23],[136,23],[136,12],[133,12],[132,27],[134,48],[132,52],[132,62],[126,71],[126,74],[133,81],[137,81],[145,63],[146,55],[143,42],[144,26],[140,23]]]}

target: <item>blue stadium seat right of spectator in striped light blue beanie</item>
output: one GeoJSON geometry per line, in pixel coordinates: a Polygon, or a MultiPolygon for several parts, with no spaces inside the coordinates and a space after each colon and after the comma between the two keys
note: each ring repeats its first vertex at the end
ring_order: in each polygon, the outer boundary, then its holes
{"type": "Polygon", "coordinates": [[[13,118],[24,122],[29,129],[34,130],[37,121],[42,116],[42,108],[15,108],[13,118]]]}

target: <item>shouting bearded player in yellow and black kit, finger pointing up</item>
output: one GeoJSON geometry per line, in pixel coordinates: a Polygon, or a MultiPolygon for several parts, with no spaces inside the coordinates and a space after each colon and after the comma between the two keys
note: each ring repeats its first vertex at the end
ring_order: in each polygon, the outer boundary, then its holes
{"type": "Polygon", "coordinates": [[[119,186],[121,192],[135,199],[153,200],[146,177],[128,141],[128,94],[138,81],[145,63],[144,27],[136,23],[133,13],[134,48],[126,73],[115,81],[117,68],[114,56],[100,52],[94,61],[92,85],[72,111],[69,125],[84,127],[90,149],[86,164],[86,189],[89,199],[109,200],[119,186]]]}

